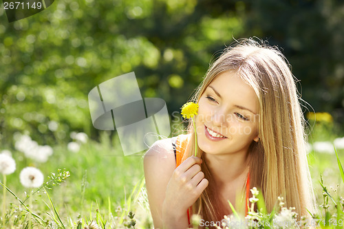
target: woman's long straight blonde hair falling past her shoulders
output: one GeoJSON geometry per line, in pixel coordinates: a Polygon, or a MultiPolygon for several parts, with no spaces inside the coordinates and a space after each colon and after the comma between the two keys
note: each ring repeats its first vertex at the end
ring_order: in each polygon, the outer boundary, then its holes
{"type": "MultiPolygon", "coordinates": [[[[259,100],[259,141],[249,148],[250,188],[261,190],[269,212],[284,197],[286,207],[295,207],[300,216],[309,217],[315,211],[312,180],[305,151],[303,113],[299,94],[288,61],[275,47],[262,41],[245,39],[224,50],[206,72],[193,101],[198,102],[206,87],[222,72],[234,71],[250,85],[259,100]]],[[[191,144],[185,157],[194,152],[193,124],[189,123],[191,144]]],[[[197,149],[204,161],[204,153],[197,149]]],[[[224,168],[226,169],[226,168],[224,168]]],[[[208,187],[193,204],[193,213],[206,221],[220,221],[216,187],[205,163],[202,171],[208,187]]]]}

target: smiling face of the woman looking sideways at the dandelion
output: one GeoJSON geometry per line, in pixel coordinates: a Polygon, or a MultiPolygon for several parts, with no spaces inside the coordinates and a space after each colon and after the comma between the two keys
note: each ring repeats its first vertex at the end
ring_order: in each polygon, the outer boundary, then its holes
{"type": "Polygon", "coordinates": [[[255,91],[232,72],[219,74],[202,94],[195,118],[200,149],[211,154],[246,153],[258,141],[255,91]]]}

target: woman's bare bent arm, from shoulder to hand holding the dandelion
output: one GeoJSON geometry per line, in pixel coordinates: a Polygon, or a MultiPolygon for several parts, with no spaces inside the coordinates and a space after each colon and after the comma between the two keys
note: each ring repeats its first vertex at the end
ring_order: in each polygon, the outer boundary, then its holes
{"type": "Polygon", "coordinates": [[[200,197],[208,180],[198,157],[175,168],[171,139],[155,142],[144,155],[144,176],[155,228],[188,228],[186,210],[200,197]]]}

